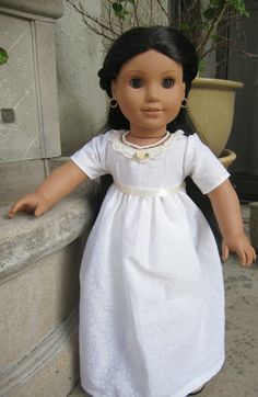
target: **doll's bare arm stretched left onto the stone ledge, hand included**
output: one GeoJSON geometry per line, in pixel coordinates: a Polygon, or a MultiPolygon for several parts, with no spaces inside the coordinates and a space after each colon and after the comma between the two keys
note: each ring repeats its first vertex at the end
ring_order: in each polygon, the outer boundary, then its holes
{"type": "Polygon", "coordinates": [[[44,214],[86,178],[86,174],[74,162],[68,161],[55,169],[35,193],[20,198],[9,211],[9,217],[12,218],[17,212],[33,213],[35,216],[44,214]]]}

